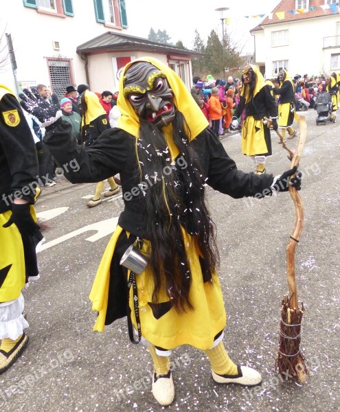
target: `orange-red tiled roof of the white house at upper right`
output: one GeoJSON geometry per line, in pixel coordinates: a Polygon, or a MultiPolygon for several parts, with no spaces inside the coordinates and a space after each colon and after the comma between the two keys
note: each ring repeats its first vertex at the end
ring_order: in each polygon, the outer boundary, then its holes
{"type": "Polygon", "coordinates": [[[251,32],[256,32],[258,30],[262,30],[262,26],[275,24],[275,23],[286,23],[288,21],[302,21],[305,19],[313,19],[315,17],[324,17],[332,15],[332,10],[330,8],[323,10],[322,8],[318,7],[320,5],[325,5],[324,0],[309,0],[308,12],[303,12],[297,14],[291,14],[288,11],[295,10],[295,0],[282,0],[279,4],[274,8],[272,11],[273,16],[272,19],[269,19],[267,16],[264,21],[262,21],[259,25],[251,29],[251,32]],[[310,8],[314,8],[315,10],[310,10],[310,8]],[[285,12],[284,19],[280,20],[275,12],[285,12]]]}

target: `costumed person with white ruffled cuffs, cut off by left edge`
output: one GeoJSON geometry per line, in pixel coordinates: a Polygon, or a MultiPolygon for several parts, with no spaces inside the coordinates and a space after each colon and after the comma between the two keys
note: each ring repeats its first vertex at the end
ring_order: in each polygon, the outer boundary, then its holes
{"type": "Polygon", "coordinates": [[[32,207],[37,174],[30,126],[12,91],[0,84],[0,374],[28,343],[21,290],[38,278],[35,247],[43,236],[32,207]]]}

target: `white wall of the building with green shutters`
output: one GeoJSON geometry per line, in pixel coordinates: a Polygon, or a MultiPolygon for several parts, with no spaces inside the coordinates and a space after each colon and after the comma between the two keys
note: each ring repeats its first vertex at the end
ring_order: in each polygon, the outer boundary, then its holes
{"type": "Polygon", "coordinates": [[[19,82],[43,83],[49,87],[45,57],[73,59],[75,83],[86,82],[84,62],[76,47],[113,29],[95,21],[93,0],[73,0],[73,12],[73,17],[61,18],[24,7],[22,0],[0,0],[0,33],[12,34],[19,82]],[[60,50],[54,50],[52,41],[60,43],[60,50]]]}

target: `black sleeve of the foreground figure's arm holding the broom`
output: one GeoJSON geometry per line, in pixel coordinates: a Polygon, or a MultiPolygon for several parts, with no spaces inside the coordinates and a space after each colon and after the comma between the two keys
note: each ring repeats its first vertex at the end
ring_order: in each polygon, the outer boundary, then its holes
{"type": "Polygon", "coordinates": [[[256,175],[238,170],[234,160],[225,152],[223,144],[209,129],[196,139],[195,150],[199,154],[203,170],[207,170],[207,184],[214,190],[233,198],[262,198],[272,194],[269,189],[273,183],[272,174],[256,175]]]}

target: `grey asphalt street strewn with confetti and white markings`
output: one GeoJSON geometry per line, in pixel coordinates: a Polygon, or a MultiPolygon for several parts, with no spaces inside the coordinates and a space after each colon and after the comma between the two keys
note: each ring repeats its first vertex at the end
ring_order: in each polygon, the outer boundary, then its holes
{"type": "MultiPolygon", "coordinates": [[[[130,343],[126,319],[104,333],[92,331],[89,292],[122,198],[89,209],[94,185],[71,185],[60,176],[36,203],[47,228],[38,253],[41,279],[23,291],[30,344],[0,376],[0,411],[340,411],[340,122],[316,126],[315,111],[302,114],[308,123],[300,165],[305,224],[295,272],[306,308],[305,385],[280,379],[274,370],[281,299],[288,290],[285,249],[295,221],[289,194],[234,200],[207,188],[228,316],[224,342],[236,363],[260,371],[262,388],[216,384],[205,353],[183,346],[171,358],[175,400],[162,408],[150,389],[148,351],[130,343]]],[[[290,163],[274,132],[272,141],[267,172],[277,175],[290,163]]],[[[295,148],[297,139],[287,144],[295,148]]],[[[240,133],[223,137],[223,146],[240,170],[253,170],[241,154],[240,133]]]]}

